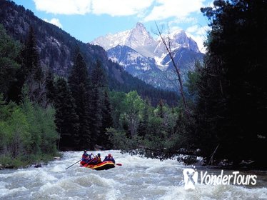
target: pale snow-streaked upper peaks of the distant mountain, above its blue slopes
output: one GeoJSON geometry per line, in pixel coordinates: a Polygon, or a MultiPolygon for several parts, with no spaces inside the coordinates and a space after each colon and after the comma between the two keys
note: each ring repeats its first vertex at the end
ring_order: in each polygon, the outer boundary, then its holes
{"type": "MultiPolygon", "coordinates": [[[[169,37],[171,40],[171,49],[173,51],[179,48],[186,48],[195,51],[196,53],[199,52],[196,41],[193,41],[193,39],[188,37],[186,32],[181,29],[173,31],[169,36],[163,35],[163,37],[166,40],[169,37]]],[[[161,39],[153,39],[151,34],[146,30],[146,27],[139,22],[131,30],[122,31],[118,34],[101,36],[91,43],[98,44],[105,50],[114,48],[117,45],[129,46],[131,49],[136,50],[139,54],[155,58],[158,61],[160,61],[160,58],[166,54],[166,49],[161,39]]]]}

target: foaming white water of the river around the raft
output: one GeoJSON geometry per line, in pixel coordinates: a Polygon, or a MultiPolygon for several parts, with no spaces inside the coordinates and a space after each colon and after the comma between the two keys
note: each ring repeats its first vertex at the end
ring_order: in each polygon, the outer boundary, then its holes
{"type": "MultiPolygon", "coordinates": [[[[122,166],[94,171],[76,164],[66,170],[82,154],[66,152],[60,161],[51,161],[41,168],[1,170],[0,199],[267,199],[266,171],[246,172],[258,173],[253,187],[198,184],[195,190],[185,190],[186,166],[176,160],[145,159],[119,151],[99,152],[102,156],[111,152],[122,166]]],[[[214,174],[221,171],[201,170],[214,174]]]]}

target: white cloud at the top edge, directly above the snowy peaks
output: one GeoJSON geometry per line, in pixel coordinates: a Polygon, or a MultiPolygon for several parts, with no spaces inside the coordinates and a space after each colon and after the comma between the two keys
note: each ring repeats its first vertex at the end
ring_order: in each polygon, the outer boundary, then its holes
{"type": "Polygon", "coordinates": [[[171,17],[186,19],[193,12],[200,12],[205,0],[156,0],[156,6],[144,21],[163,20],[171,17]]]}

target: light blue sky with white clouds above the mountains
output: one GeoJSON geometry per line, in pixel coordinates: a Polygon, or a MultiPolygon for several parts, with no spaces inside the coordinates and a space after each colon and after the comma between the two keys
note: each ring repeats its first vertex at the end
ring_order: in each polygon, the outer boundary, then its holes
{"type": "Polygon", "coordinates": [[[85,43],[99,36],[133,29],[141,22],[152,36],[156,24],[163,31],[183,29],[201,51],[206,39],[208,20],[201,7],[213,0],[13,0],[44,21],[85,43]]]}

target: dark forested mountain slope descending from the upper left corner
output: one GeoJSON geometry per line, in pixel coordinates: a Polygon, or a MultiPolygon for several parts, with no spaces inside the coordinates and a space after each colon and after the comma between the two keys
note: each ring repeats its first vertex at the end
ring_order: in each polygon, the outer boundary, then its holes
{"type": "Polygon", "coordinates": [[[41,66],[53,69],[58,76],[69,76],[69,71],[73,65],[72,60],[76,49],[79,48],[89,71],[96,60],[101,61],[102,67],[106,71],[109,89],[124,92],[136,90],[143,98],[148,96],[153,105],[158,104],[160,99],[164,99],[170,105],[177,103],[175,93],[155,89],[131,76],[119,64],[111,61],[101,46],[85,44],[75,39],[59,27],[39,19],[34,16],[32,11],[16,5],[13,1],[0,1],[0,23],[4,25],[9,35],[21,43],[26,40],[29,27],[33,27],[41,66]]]}

